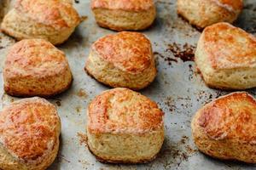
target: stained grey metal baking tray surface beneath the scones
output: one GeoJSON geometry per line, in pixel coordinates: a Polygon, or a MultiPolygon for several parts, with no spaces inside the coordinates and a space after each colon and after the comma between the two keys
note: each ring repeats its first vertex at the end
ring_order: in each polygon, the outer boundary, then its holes
{"type": "MultiPolygon", "coordinates": [[[[245,8],[235,25],[256,34],[256,1],[245,0],[245,8]]],[[[1,7],[6,0],[0,0],[1,7]]],[[[113,165],[96,161],[86,147],[86,107],[91,99],[109,89],[84,72],[84,63],[90,45],[99,37],[113,31],[100,28],[90,11],[89,0],[76,0],[75,8],[84,21],[67,42],[59,46],[66,54],[73,71],[73,85],[67,92],[49,99],[57,106],[61,116],[61,147],[59,155],[49,170],[79,169],[256,169],[241,162],[218,161],[201,154],[191,138],[190,120],[195,112],[223,94],[230,92],[207,88],[200,75],[195,73],[193,53],[201,35],[194,27],[176,14],[175,0],[156,0],[157,19],[146,34],[154,48],[158,75],[154,82],[140,91],[154,99],[165,112],[166,139],[159,156],[142,165],[113,165]]],[[[3,10],[0,10],[0,14],[3,10]]],[[[0,17],[1,18],[1,17],[0,17]]],[[[0,68],[12,38],[0,33],[0,68]]],[[[0,78],[1,107],[17,98],[3,92],[3,78],[0,78]]],[[[248,91],[256,95],[256,90],[248,91]]]]}

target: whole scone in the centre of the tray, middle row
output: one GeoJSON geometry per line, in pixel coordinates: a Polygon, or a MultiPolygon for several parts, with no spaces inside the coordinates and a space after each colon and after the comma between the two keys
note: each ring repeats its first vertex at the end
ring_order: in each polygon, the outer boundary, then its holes
{"type": "Polygon", "coordinates": [[[93,43],[85,70],[113,88],[145,88],[156,76],[151,43],[137,32],[102,37],[93,43]]]}

